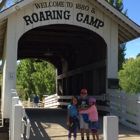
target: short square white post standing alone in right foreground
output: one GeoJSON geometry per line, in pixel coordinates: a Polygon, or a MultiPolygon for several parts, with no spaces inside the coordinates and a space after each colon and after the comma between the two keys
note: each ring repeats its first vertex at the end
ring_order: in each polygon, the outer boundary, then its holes
{"type": "Polygon", "coordinates": [[[104,140],[118,140],[118,117],[104,116],[104,140]]]}

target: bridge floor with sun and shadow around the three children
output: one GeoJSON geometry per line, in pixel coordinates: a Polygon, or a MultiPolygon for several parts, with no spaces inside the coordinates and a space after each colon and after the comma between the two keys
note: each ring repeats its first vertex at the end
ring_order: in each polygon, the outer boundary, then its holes
{"type": "MultiPolygon", "coordinates": [[[[68,140],[65,109],[26,109],[31,121],[30,140],[68,140]]],[[[103,128],[103,117],[100,117],[103,128]]],[[[103,130],[99,130],[100,140],[103,140],[103,130]]],[[[90,136],[92,140],[92,136],[90,136]]],[[[78,138],[80,133],[78,131],[78,138]]],[[[140,133],[119,124],[119,140],[140,140],[140,133]]]]}

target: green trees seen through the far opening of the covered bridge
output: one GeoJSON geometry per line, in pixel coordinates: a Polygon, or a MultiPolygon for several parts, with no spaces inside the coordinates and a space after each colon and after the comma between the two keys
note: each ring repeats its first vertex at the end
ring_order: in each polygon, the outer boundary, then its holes
{"type": "Polygon", "coordinates": [[[55,93],[55,68],[48,62],[37,63],[35,59],[21,60],[17,66],[17,90],[23,100],[37,94],[55,93]]]}

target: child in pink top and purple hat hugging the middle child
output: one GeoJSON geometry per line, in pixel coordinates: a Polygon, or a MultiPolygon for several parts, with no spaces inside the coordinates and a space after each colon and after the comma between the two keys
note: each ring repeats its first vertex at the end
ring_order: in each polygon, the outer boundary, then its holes
{"type": "Polygon", "coordinates": [[[92,136],[93,140],[95,140],[95,137],[97,140],[99,140],[98,130],[100,129],[100,124],[98,121],[98,112],[97,108],[95,106],[96,99],[90,98],[88,100],[90,108],[86,110],[79,111],[79,114],[85,114],[88,113],[88,119],[89,119],[89,128],[92,130],[92,136]]]}

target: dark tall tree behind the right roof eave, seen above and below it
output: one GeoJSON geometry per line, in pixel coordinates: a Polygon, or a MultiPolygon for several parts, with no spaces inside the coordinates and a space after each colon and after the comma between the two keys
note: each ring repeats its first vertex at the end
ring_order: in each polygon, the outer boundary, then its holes
{"type": "MultiPolygon", "coordinates": [[[[123,0],[106,0],[120,12],[123,11],[123,0]]],[[[127,15],[127,9],[123,12],[127,15]]],[[[122,69],[122,64],[125,61],[126,43],[118,46],[118,71],[122,69]]]]}

